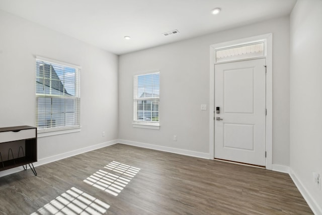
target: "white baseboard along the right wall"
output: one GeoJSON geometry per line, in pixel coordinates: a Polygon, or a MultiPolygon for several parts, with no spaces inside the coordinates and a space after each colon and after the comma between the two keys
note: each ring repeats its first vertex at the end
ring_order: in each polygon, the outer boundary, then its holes
{"type": "Polygon", "coordinates": [[[313,213],[315,215],[318,215],[318,214],[321,215],[322,214],[321,205],[319,205],[314,200],[314,198],[311,197],[309,192],[306,190],[305,186],[303,186],[303,183],[299,180],[299,178],[296,176],[296,174],[294,173],[294,171],[292,169],[290,169],[289,175],[292,178],[292,180],[293,180],[294,184],[296,185],[297,189],[300,191],[300,193],[302,194],[303,198],[307,202],[308,206],[313,211],[313,213]]]}

